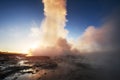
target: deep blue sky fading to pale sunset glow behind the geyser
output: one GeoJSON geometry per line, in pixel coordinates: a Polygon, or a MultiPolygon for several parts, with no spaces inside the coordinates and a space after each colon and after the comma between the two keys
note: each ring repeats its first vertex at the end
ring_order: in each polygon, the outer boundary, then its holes
{"type": "MultiPolygon", "coordinates": [[[[119,9],[119,0],[67,0],[67,39],[77,39],[88,26],[101,27],[119,9]]],[[[42,0],[0,0],[0,51],[35,48],[39,41],[31,30],[43,18],[42,0]]]]}

